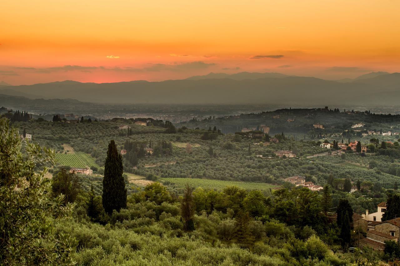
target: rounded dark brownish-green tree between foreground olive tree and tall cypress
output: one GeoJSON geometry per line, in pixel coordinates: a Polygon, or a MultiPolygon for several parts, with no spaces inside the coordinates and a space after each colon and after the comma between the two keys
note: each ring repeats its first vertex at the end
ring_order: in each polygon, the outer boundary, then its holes
{"type": "Polygon", "coordinates": [[[54,175],[52,180],[52,192],[56,197],[60,194],[64,195],[65,203],[73,203],[78,196],[79,177],[75,172],[62,168],[60,172],[54,175]]]}

